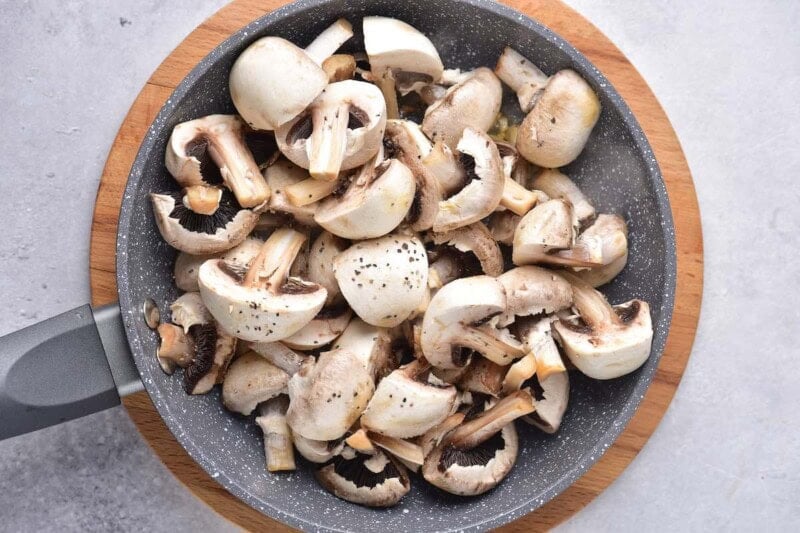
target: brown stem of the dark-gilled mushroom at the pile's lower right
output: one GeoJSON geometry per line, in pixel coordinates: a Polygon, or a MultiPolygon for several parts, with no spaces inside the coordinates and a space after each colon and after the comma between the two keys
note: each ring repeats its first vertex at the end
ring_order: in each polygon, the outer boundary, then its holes
{"type": "Polygon", "coordinates": [[[536,407],[528,391],[515,391],[490,409],[460,425],[447,437],[447,443],[461,449],[470,449],[485,442],[503,426],[532,413],[536,407]]]}

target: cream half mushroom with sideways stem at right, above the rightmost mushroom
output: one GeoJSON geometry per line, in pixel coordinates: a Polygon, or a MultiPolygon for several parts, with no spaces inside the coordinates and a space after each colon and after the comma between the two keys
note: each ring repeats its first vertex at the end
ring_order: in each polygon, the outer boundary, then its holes
{"type": "Polygon", "coordinates": [[[576,226],[572,204],[568,201],[548,200],[537,205],[522,217],[514,232],[514,264],[600,266],[602,243],[599,239],[576,243],[576,226]]]}

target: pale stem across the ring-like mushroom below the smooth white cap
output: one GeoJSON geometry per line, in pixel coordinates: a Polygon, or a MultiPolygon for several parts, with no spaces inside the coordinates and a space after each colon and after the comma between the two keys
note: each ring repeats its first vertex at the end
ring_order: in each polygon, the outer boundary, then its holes
{"type": "Polygon", "coordinates": [[[314,129],[308,139],[308,173],[318,180],[334,181],[342,168],[347,148],[349,102],[316,106],[311,110],[314,129]]]}

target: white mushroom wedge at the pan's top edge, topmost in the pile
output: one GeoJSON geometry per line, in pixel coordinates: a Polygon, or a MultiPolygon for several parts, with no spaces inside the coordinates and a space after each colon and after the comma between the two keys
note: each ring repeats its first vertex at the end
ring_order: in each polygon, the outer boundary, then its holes
{"type": "Polygon", "coordinates": [[[444,66],[433,43],[413,26],[388,17],[364,17],[364,48],[376,78],[392,72],[401,94],[436,83],[444,66]]]}

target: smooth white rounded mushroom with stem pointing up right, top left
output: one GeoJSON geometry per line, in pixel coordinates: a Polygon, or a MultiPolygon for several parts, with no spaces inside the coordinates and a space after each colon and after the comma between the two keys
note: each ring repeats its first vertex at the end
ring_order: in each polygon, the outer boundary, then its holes
{"type": "Polygon", "coordinates": [[[280,37],[258,39],[231,68],[236,110],[256,129],[274,130],[290,121],[328,85],[321,65],[352,36],[352,25],[339,19],[305,50],[280,37]]]}

